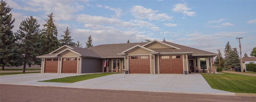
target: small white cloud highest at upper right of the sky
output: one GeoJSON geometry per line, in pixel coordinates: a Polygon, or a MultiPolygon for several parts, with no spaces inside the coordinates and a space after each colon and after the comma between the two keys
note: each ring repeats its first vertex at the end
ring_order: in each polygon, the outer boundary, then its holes
{"type": "Polygon", "coordinates": [[[176,4],[175,7],[172,9],[174,12],[183,13],[185,16],[196,16],[196,12],[188,12],[192,8],[188,8],[186,4],[176,4]]]}

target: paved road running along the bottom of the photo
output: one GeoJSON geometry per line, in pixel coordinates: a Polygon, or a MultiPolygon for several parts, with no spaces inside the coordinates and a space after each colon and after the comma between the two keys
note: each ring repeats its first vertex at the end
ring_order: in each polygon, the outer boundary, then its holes
{"type": "Polygon", "coordinates": [[[256,97],[0,84],[0,102],[255,102],[256,97]]]}

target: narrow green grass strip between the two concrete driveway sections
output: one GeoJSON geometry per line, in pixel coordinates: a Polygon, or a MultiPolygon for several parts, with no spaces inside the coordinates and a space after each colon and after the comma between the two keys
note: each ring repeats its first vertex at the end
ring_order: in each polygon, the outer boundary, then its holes
{"type": "Polygon", "coordinates": [[[40,82],[66,82],[66,83],[73,83],[73,82],[78,82],[82,80],[87,80],[91,78],[97,78],[97,77],[102,77],[102,76],[107,76],[107,75],[112,75],[116,73],[98,73],[98,74],[88,74],[88,75],[78,75],[78,76],[72,76],[72,77],[64,77],[64,78],[55,78],[51,80],[44,80],[40,82]]]}

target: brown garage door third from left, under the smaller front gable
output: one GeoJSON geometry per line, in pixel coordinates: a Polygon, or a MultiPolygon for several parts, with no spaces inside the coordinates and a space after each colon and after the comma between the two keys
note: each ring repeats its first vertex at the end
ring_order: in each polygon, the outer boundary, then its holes
{"type": "Polygon", "coordinates": [[[130,56],[129,73],[150,74],[150,56],[130,56]]]}

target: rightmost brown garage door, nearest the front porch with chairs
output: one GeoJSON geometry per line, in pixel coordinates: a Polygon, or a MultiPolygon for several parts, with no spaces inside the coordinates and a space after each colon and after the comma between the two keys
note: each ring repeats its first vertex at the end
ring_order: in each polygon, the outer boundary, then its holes
{"type": "Polygon", "coordinates": [[[160,56],[160,73],[183,74],[182,55],[160,56]]]}

